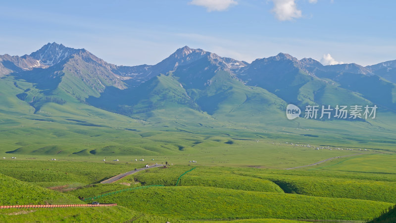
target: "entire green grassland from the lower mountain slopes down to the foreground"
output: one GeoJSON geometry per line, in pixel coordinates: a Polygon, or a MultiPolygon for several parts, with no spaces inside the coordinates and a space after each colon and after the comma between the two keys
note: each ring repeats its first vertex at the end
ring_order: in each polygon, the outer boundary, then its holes
{"type": "MultiPolygon", "coordinates": [[[[0,160],[3,204],[81,203],[78,196],[142,185],[164,187],[99,199],[118,207],[2,210],[0,221],[364,221],[396,203],[394,113],[379,111],[378,118],[369,122],[287,120],[278,109],[282,101],[272,93],[224,78],[222,72],[212,77],[213,85],[205,91],[189,89],[183,83],[187,89],[183,92],[176,78],[183,82],[182,74],[176,73],[148,83],[158,94],[148,94],[137,102],[136,109],[158,108],[130,116],[82,103],[67,87],[51,93],[65,104],[52,99],[46,102],[37,86],[1,78],[0,153],[6,158],[0,160]],[[231,87],[224,88],[227,85],[231,87]],[[183,96],[186,92],[196,94],[202,102],[215,100],[218,108],[197,111],[181,106],[177,101],[189,100],[183,96]],[[24,100],[15,97],[22,93],[27,94],[24,100]],[[155,104],[164,99],[177,100],[155,104]],[[347,155],[353,156],[286,170],[347,155]],[[54,158],[56,161],[50,161],[54,158]],[[112,162],[114,159],[119,162],[112,162]],[[189,163],[193,160],[197,163],[189,163]],[[134,168],[165,162],[173,165],[99,184],[134,168]],[[175,187],[178,177],[193,167],[197,168],[175,187]]],[[[337,102],[336,96],[331,97],[337,91],[315,83],[305,89],[330,92],[319,92],[323,94],[319,96],[337,102]]],[[[338,92],[337,97],[344,93],[338,92]]],[[[307,102],[313,97],[310,91],[299,92],[298,97],[302,96],[307,102]]]]}

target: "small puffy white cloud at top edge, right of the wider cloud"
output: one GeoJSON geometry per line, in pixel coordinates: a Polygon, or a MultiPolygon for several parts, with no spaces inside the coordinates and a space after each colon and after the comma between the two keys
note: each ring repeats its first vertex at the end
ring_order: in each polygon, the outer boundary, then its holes
{"type": "Polygon", "coordinates": [[[272,12],[275,13],[275,17],[281,21],[293,20],[294,18],[301,17],[301,10],[297,9],[295,0],[272,0],[274,2],[274,8],[272,12]]]}

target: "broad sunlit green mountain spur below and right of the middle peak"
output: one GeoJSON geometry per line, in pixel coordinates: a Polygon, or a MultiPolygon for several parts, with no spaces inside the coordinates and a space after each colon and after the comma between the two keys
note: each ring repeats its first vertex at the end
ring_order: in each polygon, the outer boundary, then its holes
{"type": "MultiPolygon", "coordinates": [[[[177,74],[181,80],[187,73],[177,74]]],[[[286,103],[267,90],[244,85],[230,73],[216,71],[204,88],[188,88],[189,95],[203,111],[216,119],[237,123],[272,123],[273,116],[281,116],[286,103]],[[269,115],[271,114],[271,115],[269,115]]],[[[279,121],[279,120],[278,120],[279,121]]]]}

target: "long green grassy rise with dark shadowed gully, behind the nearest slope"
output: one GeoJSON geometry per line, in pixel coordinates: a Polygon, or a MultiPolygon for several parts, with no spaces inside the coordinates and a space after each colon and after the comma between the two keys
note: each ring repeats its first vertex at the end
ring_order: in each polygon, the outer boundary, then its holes
{"type": "MultiPolygon", "coordinates": [[[[382,160],[385,159],[383,158],[382,160]]],[[[389,165],[385,166],[384,163],[384,168],[388,168],[392,172],[395,164],[389,163],[389,165]]],[[[355,167],[358,167],[358,165],[355,167]]],[[[178,176],[188,169],[190,167],[155,169],[150,172],[137,173],[130,178],[147,185],[163,184],[173,186],[176,184],[178,176]]],[[[262,192],[285,191],[286,193],[318,197],[352,198],[396,203],[396,175],[391,172],[387,174],[363,172],[356,174],[354,171],[269,170],[198,166],[193,171],[185,174],[179,184],[183,186],[213,186],[262,192]]]]}

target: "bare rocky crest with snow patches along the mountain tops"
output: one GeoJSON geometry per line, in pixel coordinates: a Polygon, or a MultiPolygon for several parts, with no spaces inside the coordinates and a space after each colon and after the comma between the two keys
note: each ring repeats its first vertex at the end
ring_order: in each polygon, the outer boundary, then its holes
{"type": "MultiPolygon", "coordinates": [[[[45,67],[45,66],[54,65],[60,62],[61,60],[66,59],[68,56],[71,56],[78,52],[91,54],[89,51],[85,50],[84,48],[74,49],[74,48],[65,47],[63,44],[57,44],[55,42],[52,42],[44,45],[39,50],[32,52],[30,55],[24,55],[24,56],[10,56],[8,54],[0,55],[0,64],[2,64],[1,62],[3,61],[10,61],[15,66],[20,67],[22,69],[45,67]]],[[[247,64],[249,64],[246,61],[239,61],[230,57],[221,57],[215,53],[207,52],[201,49],[192,49],[188,46],[184,46],[182,48],[177,49],[170,56],[168,56],[167,58],[163,59],[162,61],[154,65],[147,65],[147,64],[136,65],[136,66],[115,65],[115,64],[107,63],[96,56],[95,57],[98,59],[98,62],[100,60],[99,63],[105,64],[106,66],[110,67],[113,71],[115,71],[114,72],[115,74],[127,76],[127,75],[136,74],[136,72],[135,73],[128,72],[127,71],[128,69],[139,70],[139,67],[144,67],[147,70],[149,67],[157,66],[161,68],[156,68],[155,70],[171,71],[174,68],[176,68],[178,65],[183,65],[188,62],[195,61],[203,56],[209,56],[214,61],[219,60],[219,62],[224,62],[224,64],[226,64],[225,68],[228,67],[232,70],[245,67],[247,66],[247,64]],[[121,70],[118,70],[119,68],[121,68],[121,70]]],[[[315,68],[324,69],[325,71],[337,71],[337,72],[342,71],[342,72],[352,72],[352,73],[361,73],[361,74],[372,74],[375,70],[381,68],[396,67],[396,60],[384,61],[368,66],[361,66],[356,63],[323,65],[319,61],[312,58],[302,58],[298,60],[296,57],[285,53],[279,53],[276,56],[257,58],[252,62],[256,60],[269,61],[269,60],[285,60],[285,59],[292,60],[293,62],[299,64],[301,67],[315,67],[315,68]]]]}

